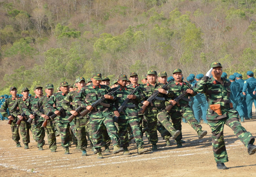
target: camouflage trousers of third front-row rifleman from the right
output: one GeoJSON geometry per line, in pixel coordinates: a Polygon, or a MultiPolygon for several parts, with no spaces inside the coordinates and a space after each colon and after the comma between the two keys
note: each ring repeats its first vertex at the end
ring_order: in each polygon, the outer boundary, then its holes
{"type": "Polygon", "coordinates": [[[133,136],[135,139],[135,143],[137,147],[141,147],[143,143],[142,134],[140,131],[140,123],[139,118],[130,118],[130,119],[122,119],[119,118],[118,127],[119,127],[119,137],[121,141],[121,147],[129,146],[129,138],[128,138],[128,126],[131,126],[133,136]]]}

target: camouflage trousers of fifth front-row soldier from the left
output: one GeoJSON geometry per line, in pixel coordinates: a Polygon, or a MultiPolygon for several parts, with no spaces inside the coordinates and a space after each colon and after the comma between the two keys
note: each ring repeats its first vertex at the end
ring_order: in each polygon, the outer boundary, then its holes
{"type": "Polygon", "coordinates": [[[59,122],[58,127],[61,134],[61,146],[63,148],[69,148],[69,142],[72,140],[70,134],[70,123],[59,122]]]}

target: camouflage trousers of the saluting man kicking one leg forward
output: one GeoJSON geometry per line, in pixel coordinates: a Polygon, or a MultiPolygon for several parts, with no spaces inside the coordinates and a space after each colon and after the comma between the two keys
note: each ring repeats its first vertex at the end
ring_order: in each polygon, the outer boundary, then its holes
{"type": "Polygon", "coordinates": [[[246,131],[238,120],[236,114],[226,112],[226,118],[219,120],[209,120],[209,114],[207,115],[209,126],[212,130],[212,150],[216,163],[225,163],[228,161],[228,154],[224,142],[224,125],[229,126],[237,138],[247,147],[249,143],[254,142],[254,138],[250,132],[246,131]]]}

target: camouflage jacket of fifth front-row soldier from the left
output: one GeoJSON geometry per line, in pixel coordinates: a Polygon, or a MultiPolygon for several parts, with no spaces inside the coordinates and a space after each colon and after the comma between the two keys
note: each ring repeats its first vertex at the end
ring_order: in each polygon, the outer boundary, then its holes
{"type": "MultiPolygon", "coordinates": [[[[56,99],[56,109],[60,110],[61,107],[62,107],[62,101],[63,99],[65,99],[65,97],[67,96],[67,94],[63,93],[62,91],[61,92],[58,92],[56,94],[53,94],[53,96],[55,97],[56,99]]],[[[70,104],[69,104],[70,105],[70,104]]],[[[72,108],[72,107],[71,107],[72,108]]],[[[56,118],[56,121],[60,121],[62,123],[69,123],[68,121],[68,118],[69,116],[71,115],[71,113],[69,113],[69,111],[63,111],[61,113],[61,115],[58,115],[57,118],[56,118]]]]}

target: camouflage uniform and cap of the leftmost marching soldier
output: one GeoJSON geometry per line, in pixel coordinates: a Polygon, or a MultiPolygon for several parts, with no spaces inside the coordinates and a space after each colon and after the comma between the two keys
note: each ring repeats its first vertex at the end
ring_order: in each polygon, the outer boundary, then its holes
{"type": "MultiPolygon", "coordinates": [[[[14,89],[16,87],[11,87],[10,91],[12,89],[14,89]]],[[[20,97],[17,97],[17,99],[21,99],[20,97]]],[[[8,98],[5,100],[5,102],[3,103],[3,105],[1,106],[0,112],[3,115],[3,117],[8,117],[8,109],[10,110],[11,107],[14,105],[14,103],[16,102],[17,99],[14,99],[14,97],[8,98]]],[[[16,112],[19,112],[19,110],[16,110],[16,112]]],[[[11,114],[11,113],[10,113],[11,114]]],[[[11,134],[12,134],[12,139],[14,140],[14,142],[16,142],[17,145],[19,145],[19,126],[16,125],[17,122],[17,118],[14,119],[14,121],[12,121],[11,123],[11,134]]]]}

